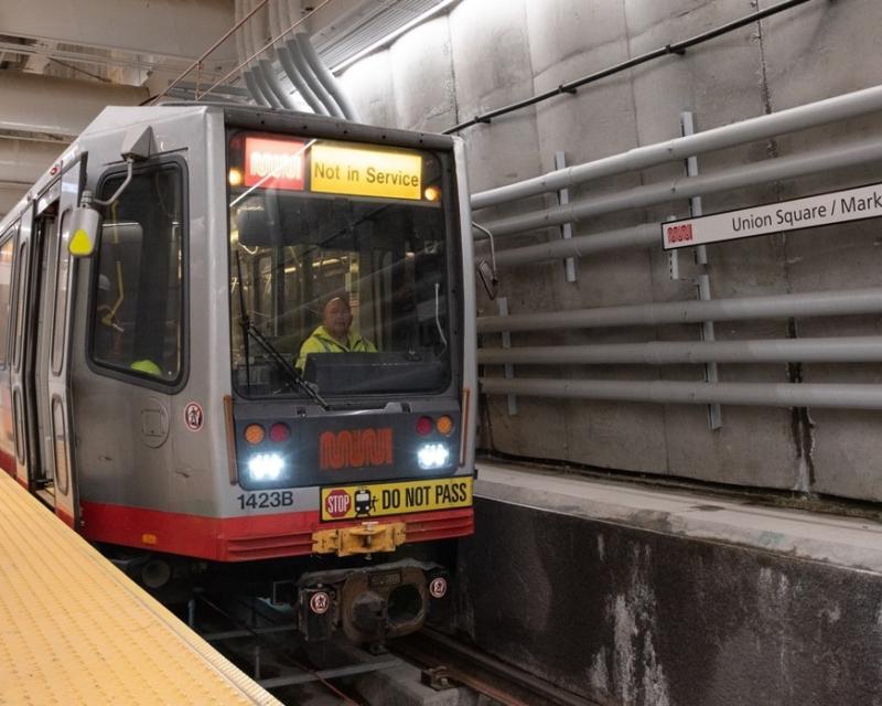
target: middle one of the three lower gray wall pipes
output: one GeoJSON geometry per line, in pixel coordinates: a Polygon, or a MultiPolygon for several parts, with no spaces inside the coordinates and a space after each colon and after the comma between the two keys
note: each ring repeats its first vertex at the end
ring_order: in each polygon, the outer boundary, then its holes
{"type": "Polygon", "coordinates": [[[486,365],[600,365],[678,363],[879,363],[882,336],[777,339],[754,341],[686,341],[603,345],[481,349],[486,365]]]}

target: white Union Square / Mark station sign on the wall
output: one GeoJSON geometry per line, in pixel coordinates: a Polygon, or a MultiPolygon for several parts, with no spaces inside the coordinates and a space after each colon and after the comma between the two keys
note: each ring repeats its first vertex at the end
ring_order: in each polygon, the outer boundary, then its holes
{"type": "Polygon", "coordinates": [[[882,184],[662,224],[666,250],[882,216],[882,184]]]}

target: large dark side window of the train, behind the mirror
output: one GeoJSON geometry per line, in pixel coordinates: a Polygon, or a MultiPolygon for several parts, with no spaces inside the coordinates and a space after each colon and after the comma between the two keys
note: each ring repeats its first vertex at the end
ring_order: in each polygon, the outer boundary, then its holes
{"type": "MultiPolygon", "coordinates": [[[[108,199],[125,173],[105,178],[108,199]]],[[[184,360],[184,178],[174,162],[135,172],[105,211],[95,256],[90,357],[114,374],[173,386],[184,360]]]]}

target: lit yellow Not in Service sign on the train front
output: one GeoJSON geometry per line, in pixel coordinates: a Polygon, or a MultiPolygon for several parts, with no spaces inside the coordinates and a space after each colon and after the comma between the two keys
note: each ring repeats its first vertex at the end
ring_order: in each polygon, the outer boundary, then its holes
{"type": "Polygon", "coordinates": [[[320,142],[311,154],[312,191],[419,200],[422,157],[415,152],[320,142]]]}

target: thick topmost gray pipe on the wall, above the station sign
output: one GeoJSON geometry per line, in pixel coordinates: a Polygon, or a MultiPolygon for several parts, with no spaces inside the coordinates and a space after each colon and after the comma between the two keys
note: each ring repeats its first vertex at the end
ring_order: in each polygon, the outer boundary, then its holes
{"type": "MultiPolygon", "coordinates": [[[[577,223],[582,218],[625,208],[639,208],[669,201],[686,200],[728,189],[752,186],[822,170],[864,164],[879,159],[882,159],[882,141],[873,138],[841,147],[817,150],[810,154],[779,157],[763,162],[742,164],[713,174],[680,178],[657,184],[637,186],[630,191],[585,199],[534,213],[501,218],[483,225],[492,231],[494,235],[520,233],[562,223],[577,223]]],[[[660,244],[660,232],[658,240],[660,244]]]]}

